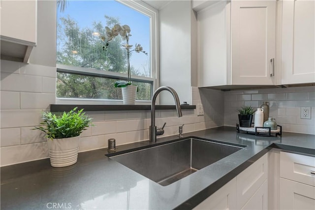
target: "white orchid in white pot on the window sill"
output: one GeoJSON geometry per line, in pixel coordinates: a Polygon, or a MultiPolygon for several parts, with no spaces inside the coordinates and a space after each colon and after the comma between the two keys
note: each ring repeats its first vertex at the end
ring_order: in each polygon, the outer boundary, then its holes
{"type": "Polygon", "coordinates": [[[103,46],[103,50],[106,50],[109,41],[111,41],[113,38],[115,38],[118,35],[121,35],[123,40],[126,40],[126,44],[123,44],[123,48],[127,51],[127,81],[119,80],[115,82],[115,87],[122,88],[122,94],[123,94],[123,102],[127,105],[134,105],[135,104],[135,96],[136,92],[138,92],[138,87],[136,85],[132,85],[131,83],[131,71],[130,71],[130,54],[131,52],[137,52],[137,53],[144,53],[148,55],[146,51],[143,50],[142,46],[140,44],[136,44],[134,48],[132,48],[133,45],[129,45],[129,36],[130,34],[130,27],[128,25],[119,25],[115,24],[112,29],[105,27],[105,35],[101,36],[101,39],[105,41],[105,46],[103,46]]]}

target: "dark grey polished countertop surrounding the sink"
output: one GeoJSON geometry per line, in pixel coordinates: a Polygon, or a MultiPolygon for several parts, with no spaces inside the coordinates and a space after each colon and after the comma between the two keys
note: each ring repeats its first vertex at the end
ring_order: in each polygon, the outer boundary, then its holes
{"type": "MultiPolygon", "coordinates": [[[[185,134],[246,145],[220,161],[168,186],[111,160],[107,149],[79,153],[78,162],[50,167],[49,159],[0,168],[1,209],[192,209],[238,175],[272,147],[315,154],[315,136],[284,132],[282,137],[257,137],[220,127],[185,134]]],[[[158,144],[178,137],[159,138],[158,144]]],[[[117,153],[152,143],[117,146],[117,153]]]]}

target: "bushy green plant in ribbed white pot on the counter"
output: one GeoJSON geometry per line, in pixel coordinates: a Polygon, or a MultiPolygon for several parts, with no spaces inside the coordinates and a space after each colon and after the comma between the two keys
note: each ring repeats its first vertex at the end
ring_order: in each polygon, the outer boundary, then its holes
{"type": "Polygon", "coordinates": [[[93,126],[92,118],[86,116],[83,109],[77,111],[77,108],[61,115],[42,111],[42,126],[34,128],[46,134],[52,167],[75,164],[78,159],[80,134],[87,127],[93,126]]]}

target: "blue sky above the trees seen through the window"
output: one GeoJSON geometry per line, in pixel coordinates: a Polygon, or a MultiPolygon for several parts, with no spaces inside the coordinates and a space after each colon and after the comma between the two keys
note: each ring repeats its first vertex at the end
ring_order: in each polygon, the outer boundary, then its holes
{"type": "MultiPolygon", "coordinates": [[[[63,13],[58,9],[58,18],[69,15],[81,28],[90,27],[94,21],[106,26],[104,15],[118,17],[122,25],[131,28],[129,44],[140,43],[147,52],[150,50],[150,18],[114,0],[68,0],[63,13]]],[[[150,55],[149,55],[150,56],[150,55]]],[[[142,53],[133,53],[130,65],[142,70],[141,64],[147,60],[142,53]]]]}

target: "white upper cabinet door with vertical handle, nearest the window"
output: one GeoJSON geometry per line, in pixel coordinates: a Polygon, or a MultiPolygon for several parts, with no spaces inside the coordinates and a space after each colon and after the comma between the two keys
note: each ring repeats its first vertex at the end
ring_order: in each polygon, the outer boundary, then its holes
{"type": "Polygon", "coordinates": [[[276,0],[231,2],[231,83],[275,84],[276,0]]]}

